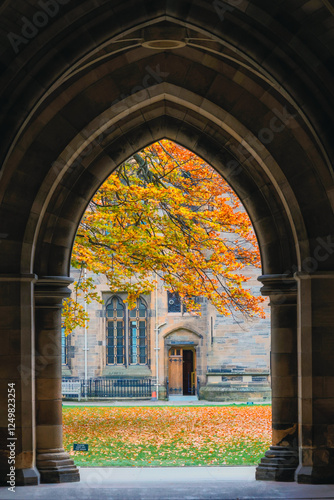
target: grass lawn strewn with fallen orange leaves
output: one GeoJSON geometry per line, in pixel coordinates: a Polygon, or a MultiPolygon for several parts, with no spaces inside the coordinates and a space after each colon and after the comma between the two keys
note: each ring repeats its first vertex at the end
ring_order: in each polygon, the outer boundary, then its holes
{"type": "Polygon", "coordinates": [[[268,405],[64,406],[63,415],[64,446],[81,466],[255,465],[271,444],[268,405]]]}

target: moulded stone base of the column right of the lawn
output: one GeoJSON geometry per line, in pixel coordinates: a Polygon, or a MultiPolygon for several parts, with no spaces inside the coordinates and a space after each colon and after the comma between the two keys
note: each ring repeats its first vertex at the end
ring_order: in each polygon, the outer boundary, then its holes
{"type": "Polygon", "coordinates": [[[297,467],[296,449],[271,446],[256,468],[255,479],[257,481],[292,482],[295,480],[297,467]]]}

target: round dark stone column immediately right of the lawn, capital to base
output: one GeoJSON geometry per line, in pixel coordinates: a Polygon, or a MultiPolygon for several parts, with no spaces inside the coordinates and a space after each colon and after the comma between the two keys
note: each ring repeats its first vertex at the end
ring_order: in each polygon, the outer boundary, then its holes
{"type": "Polygon", "coordinates": [[[272,446],[256,479],[294,481],[298,466],[297,283],[284,275],[260,276],[271,307],[272,446]]]}

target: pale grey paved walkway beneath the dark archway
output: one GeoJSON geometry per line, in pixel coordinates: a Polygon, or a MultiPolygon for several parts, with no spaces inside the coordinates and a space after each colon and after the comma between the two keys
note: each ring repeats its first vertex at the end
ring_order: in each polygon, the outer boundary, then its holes
{"type": "Polygon", "coordinates": [[[254,467],[81,468],[81,482],[5,488],[15,500],[333,500],[332,485],[255,481],[254,467]]]}

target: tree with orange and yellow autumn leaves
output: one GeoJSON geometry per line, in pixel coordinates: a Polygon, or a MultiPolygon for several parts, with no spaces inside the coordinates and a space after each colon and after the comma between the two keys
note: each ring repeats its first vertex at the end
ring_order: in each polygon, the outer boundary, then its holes
{"type": "MultiPolygon", "coordinates": [[[[81,221],[72,265],[106,276],[129,308],[157,278],[187,310],[206,297],[220,314],[263,315],[260,297],[244,288],[241,270],[259,266],[251,222],[223,178],[189,150],[163,140],[134,154],[101,186],[81,221]]],[[[79,288],[78,288],[79,287],[79,288]]],[[[93,280],[76,293],[96,299],[93,280]]],[[[83,324],[82,306],[65,301],[66,331],[83,324]]]]}

